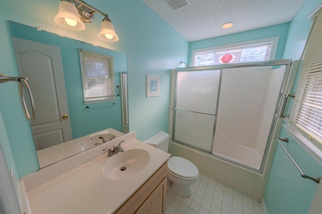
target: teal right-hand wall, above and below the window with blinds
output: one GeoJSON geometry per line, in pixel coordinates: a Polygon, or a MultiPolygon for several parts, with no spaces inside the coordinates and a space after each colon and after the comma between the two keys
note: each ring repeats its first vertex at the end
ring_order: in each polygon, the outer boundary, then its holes
{"type": "MultiPolygon", "coordinates": [[[[321,0],[308,0],[290,23],[284,59],[300,58],[310,26],[307,16],[321,3],[321,0]]],[[[282,128],[280,137],[290,139],[287,149],[306,174],[322,175],[322,167],[286,133],[285,128],[282,128]]],[[[307,213],[316,189],[317,184],[300,177],[293,163],[277,145],[264,195],[268,214],[307,213]]]]}

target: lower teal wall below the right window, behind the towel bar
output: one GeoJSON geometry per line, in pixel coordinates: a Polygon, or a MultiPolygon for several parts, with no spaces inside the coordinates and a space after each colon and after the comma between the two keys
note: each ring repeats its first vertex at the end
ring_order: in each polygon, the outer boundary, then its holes
{"type": "MultiPolygon", "coordinates": [[[[322,175],[322,167],[287,134],[285,128],[282,128],[280,137],[289,138],[284,145],[306,174],[313,177],[322,175]]],[[[277,145],[264,194],[267,213],[307,213],[316,189],[317,183],[302,178],[290,158],[277,145]]]]}

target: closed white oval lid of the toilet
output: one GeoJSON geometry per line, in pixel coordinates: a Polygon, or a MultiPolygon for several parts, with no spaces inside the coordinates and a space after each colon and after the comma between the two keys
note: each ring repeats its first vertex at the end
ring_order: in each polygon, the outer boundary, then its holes
{"type": "Polygon", "coordinates": [[[199,173],[192,162],[182,157],[172,157],[168,161],[168,169],[182,177],[196,177],[199,173]]]}

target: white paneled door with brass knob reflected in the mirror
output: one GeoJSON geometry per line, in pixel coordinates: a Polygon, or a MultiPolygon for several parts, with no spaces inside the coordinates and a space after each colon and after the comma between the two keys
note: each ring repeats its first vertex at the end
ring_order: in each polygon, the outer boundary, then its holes
{"type": "Polygon", "coordinates": [[[13,38],[20,75],[28,78],[36,121],[31,124],[37,150],[72,139],[60,48],[13,38]]]}

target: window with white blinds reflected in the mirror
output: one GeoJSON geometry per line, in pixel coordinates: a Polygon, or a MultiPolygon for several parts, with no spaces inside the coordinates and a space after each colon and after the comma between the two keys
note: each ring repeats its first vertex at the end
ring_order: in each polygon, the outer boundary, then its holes
{"type": "Polygon", "coordinates": [[[79,49],[84,102],[98,103],[115,99],[113,57],[79,49]]]}

